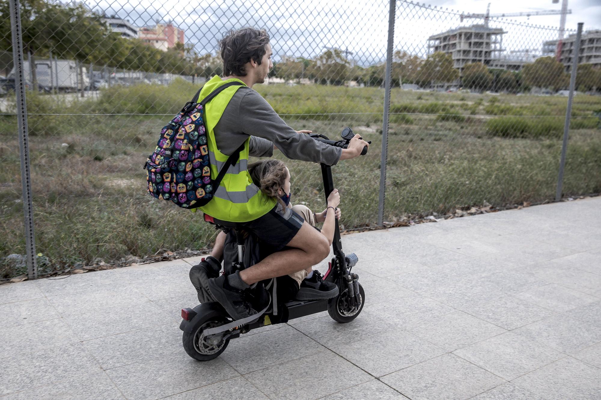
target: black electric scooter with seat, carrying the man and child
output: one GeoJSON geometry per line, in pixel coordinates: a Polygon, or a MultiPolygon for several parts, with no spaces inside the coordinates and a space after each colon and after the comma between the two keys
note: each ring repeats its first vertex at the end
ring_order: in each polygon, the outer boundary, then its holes
{"type": "MultiPolygon", "coordinates": [[[[324,135],[312,134],[310,136],[325,144],[347,148],[350,139],[355,134],[352,129],[347,127],[343,129],[340,141],[332,141],[324,135]]],[[[367,153],[367,146],[361,152],[362,155],[365,153],[367,153]]],[[[332,169],[331,166],[323,163],[321,169],[323,189],[327,199],[334,190],[332,169]]],[[[207,218],[205,219],[207,220],[207,218]]],[[[235,233],[238,259],[233,262],[232,267],[235,269],[245,268],[245,259],[248,260],[248,257],[245,258],[245,250],[248,249],[245,249],[243,229],[237,223],[211,220],[219,229],[235,233]]],[[[194,308],[182,309],[183,320],[180,329],[183,331],[182,341],[186,353],[196,360],[212,360],[225,351],[231,339],[239,338],[240,335],[244,335],[252,329],[270,324],[286,323],[294,318],[322,311],[328,311],[330,317],[339,323],[348,323],[354,320],[365,305],[365,291],[359,283],[358,274],[352,272],[358,262],[358,257],[354,253],[345,255],[343,252],[338,220],[335,220],[332,250],[334,258],[329,262],[328,271],[323,275],[323,279],[338,286],[336,297],[281,303],[278,302],[276,296],[276,279],[268,279],[261,284],[270,291],[269,305],[262,312],[251,317],[234,320],[218,302],[207,302],[194,308]]]]}

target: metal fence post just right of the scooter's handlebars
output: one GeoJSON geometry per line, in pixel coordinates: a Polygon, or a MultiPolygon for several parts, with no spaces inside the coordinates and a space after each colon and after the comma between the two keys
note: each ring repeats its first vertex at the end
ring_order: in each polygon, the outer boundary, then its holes
{"type": "Polygon", "coordinates": [[[382,117],[382,158],[380,159],[380,197],[377,209],[377,224],[384,224],[384,195],[386,190],[386,156],[388,156],[388,112],[390,109],[390,88],[392,69],[392,42],[394,41],[394,13],[396,0],[389,0],[388,46],[386,47],[386,77],[384,81],[384,115],[382,117]]]}

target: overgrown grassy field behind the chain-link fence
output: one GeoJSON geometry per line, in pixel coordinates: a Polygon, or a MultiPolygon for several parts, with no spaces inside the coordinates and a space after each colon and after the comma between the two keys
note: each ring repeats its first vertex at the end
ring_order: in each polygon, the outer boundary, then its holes
{"type": "MultiPolygon", "coordinates": [[[[255,88],[294,129],[335,137],[351,126],[371,140],[360,159],[332,171],[344,228],[374,225],[382,147],[383,89],[255,88]]],[[[98,100],[28,97],[34,220],[40,271],[117,262],[211,246],[197,214],[145,194],[145,157],[161,127],[194,94],[180,81],[113,87],[98,100]],[[117,115],[133,114],[133,115],[117,115]],[[54,115],[59,114],[59,115],[54,115]],[[81,115],[87,114],[87,115],[81,115]],[[93,115],[90,115],[93,114],[93,115]],[[108,114],[108,115],[106,115],[108,114]],[[145,114],[145,115],[136,115],[145,114]],[[168,114],[168,115],[162,115],[168,114]]],[[[385,220],[457,207],[554,198],[566,97],[408,92],[394,89],[386,166],[385,220]]],[[[601,192],[601,98],[575,97],[564,195],[601,192]]],[[[0,258],[25,253],[19,144],[14,115],[0,114],[0,258]]],[[[276,152],[276,157],[281,157],[276,152]]],[[[292,202],[324,207],[318,165],[287,160],[292,202]]],[[[4,262],[0,278],[23,274],[4,262]]]]}

